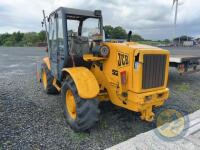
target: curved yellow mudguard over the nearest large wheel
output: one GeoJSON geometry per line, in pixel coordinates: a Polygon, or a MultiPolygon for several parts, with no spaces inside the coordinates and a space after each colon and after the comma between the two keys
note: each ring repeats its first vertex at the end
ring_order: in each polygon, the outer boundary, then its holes
{"type": "Polygon", "coordinates": [[[63,68],[62,73],[68,73],[75,82],[81,98],[90,99],[99,93],[98,82],[93,73],[85,67],[63,68]]]}

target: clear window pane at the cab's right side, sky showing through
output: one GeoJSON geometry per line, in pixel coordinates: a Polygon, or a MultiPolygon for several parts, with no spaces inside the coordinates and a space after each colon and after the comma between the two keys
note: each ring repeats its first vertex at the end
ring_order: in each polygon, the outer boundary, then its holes
{"type": "Polygon", "coordinates": [[[100,23],[99,19],[88,18],[83,22],[82,36],[93,39],[96,36],[100,36],[100,23]]]}

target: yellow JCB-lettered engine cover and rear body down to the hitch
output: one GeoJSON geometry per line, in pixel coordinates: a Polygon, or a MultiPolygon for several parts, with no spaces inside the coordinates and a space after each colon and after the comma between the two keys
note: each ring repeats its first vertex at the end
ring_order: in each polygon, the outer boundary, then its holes
{"type": "Polygon", "coordinates": [[[108,98],[113,104],[141,112],[142,119],[151,121],[153,118],[152,108],[163,105],[169,96],[167,88],[169,51],[131,42],[103,43],[103,45],[110,49],[108,58],[94,63],[91,68],[99,85],[101,85],[101,90],[105,91],[106,89],[108,98]],[[158,65],[165,68],[162,85],[143,88],[145,55],[165,57],[165,64],[158,65]],[[125,83],[124,81],[122,83],[122,73],[124,72],[125,83]]]}

